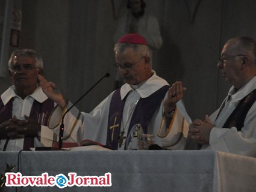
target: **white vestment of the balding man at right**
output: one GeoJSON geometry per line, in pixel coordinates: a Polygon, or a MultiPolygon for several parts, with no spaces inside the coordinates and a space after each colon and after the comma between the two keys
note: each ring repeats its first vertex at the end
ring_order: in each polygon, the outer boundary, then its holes
{"type": "Polygon", "coordinates": [[[217,117],[217,114],[220,109],[210,116],[214,125],[210,132],[210,145],[202,145],[201,149],[256,157],[256,103],[249,109],[241,131],[237,131],[236,127],[222,128],[239,102],[254,89],[256,89],[256,77],[238,91],[234,90],[234,86],[229,89],[228,96],[223,101],[225,106],[219,116],[217,117]]]}

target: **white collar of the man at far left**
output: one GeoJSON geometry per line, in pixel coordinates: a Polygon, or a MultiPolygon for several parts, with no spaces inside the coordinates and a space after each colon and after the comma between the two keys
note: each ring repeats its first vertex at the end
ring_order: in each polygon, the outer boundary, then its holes
{"type": "MultiPolygon", "coordinates": [[[[1,95],[2,103],[4,103],[4,105],[6,105],[11,100],[11,98],[20,98],[14,90],[15,86],[12,85],[1,95]]],[[[39,103],[43,103],[43,101],[48,99],[48,97],[43,92],[41,86],[38,86],[36,90],[33,92],[33,94],[28,95],[26,98],[28,97],[34,98],[34,100],[38,101],[39,103]]]]}

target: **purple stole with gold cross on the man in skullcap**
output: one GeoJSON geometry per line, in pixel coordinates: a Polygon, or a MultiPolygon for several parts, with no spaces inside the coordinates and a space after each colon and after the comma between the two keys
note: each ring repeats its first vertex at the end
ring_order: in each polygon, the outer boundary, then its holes
{"type": "MultiPolygon", "coordinates": [[[[164,95],[169,88],[169,85],[165,85],[155,91],[153,94],[149,95],[149,97],[140,98],[139,102],[137,103],[136,109],[133,112],[133,116],[131,117],[128,133],[135,124],[142,125],[143,132],[145,134],[148,133],[149,121],[151,121],[151,118],[154,115],[155,111],[160,107],[161,101],[163,100],[164,95]]],[[[118,148],[123,107],[125,106],[127,95],[125,98],[123,98],[123,100],[121,100],[119,88],[114,92],[111,98],[106,143],[106,145],[111,149],[118,148]]]]}

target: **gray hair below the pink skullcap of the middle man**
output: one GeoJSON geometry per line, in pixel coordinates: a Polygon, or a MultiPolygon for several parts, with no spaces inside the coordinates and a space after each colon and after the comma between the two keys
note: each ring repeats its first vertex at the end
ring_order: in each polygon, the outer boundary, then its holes
{"type": "Polygon", "coordinates": [[[130,48],[133,49],[134,53],[136,53],[137,56],[147,56],[150,58],[149,48],[144,44],[116,43],[114,46],[114,52],[124,53],[130,48]]]}

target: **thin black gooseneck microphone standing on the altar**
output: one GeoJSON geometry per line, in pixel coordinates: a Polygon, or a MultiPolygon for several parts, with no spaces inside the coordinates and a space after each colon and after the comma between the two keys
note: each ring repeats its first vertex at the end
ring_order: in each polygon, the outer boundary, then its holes
{"type": "Polygon", "coordinates": [[[71,107],[69,107],[69,109],[66,110],[66,112],[63,114],[62,119],[61,119],[61,125],[60,125],[60,134],[59,134],[59,139],[58,139],[58,148],[61,149],[62,148],[62,143],[63,143],[63,133],[64,133],[64,117],[67,114],[67,112],[69,112],[70,109],[72,109],[73,106],[75,106],[75,104],[77,104],[84,96],[86,96],[96,85],[98,85],[99,82],[101,82],[102,79],[104,79],[105,77],[109,77],[110,73],[106,73],[103,77],[101,77],[101,79],[98,80],[98,82],[96,82],[88,91],[86,91],[77,101],[75,101],[75,103],[72,104],[71,107]]]}

